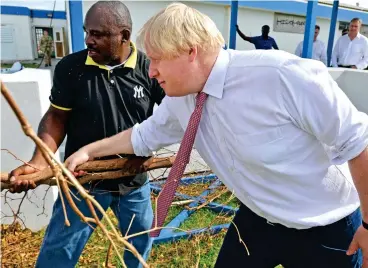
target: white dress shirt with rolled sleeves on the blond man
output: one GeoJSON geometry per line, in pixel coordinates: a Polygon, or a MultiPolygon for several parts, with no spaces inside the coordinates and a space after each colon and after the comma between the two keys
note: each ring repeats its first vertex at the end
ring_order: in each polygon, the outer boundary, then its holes
{"type": "MultiPolygon", "coordinates": [[[[358,208],[346,161],[368,145],[368,116],[321,62],[284,51],[221,50],[203,91],[209,96],[195,148],[253,212],[304,229],[358,208]]],[[[180,142],[194,107],[195,94],[166,96],[134,126],[135,154],[180,142]]]]}

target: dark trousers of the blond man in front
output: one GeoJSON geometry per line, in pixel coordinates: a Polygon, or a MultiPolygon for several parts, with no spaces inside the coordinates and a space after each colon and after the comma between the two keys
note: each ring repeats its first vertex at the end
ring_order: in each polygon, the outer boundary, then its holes
{"type": "Polygon", "coordinates": [[[362,223],[360,209],[344,219],[306,230],[268,223],[242,205],[225,236],[215,268],[360,268],[362,252],[346,255],[362,223]],[[250,255],[239,234],[248,247],[250,255]]]}

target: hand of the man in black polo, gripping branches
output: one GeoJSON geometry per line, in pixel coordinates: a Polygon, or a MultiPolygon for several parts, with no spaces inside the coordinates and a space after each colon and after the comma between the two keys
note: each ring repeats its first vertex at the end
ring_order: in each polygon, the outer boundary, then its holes
{"type": "Polygon", "coordinates": [[[27,175],[27,174],[31,174],[31,173],[35,173],[37,171],[40,171],[44,168],[46,168],[46,164],[44,163],[38,163],[35,161],[30,161],[28,163],[29,165],[23,165],[20,166],[16,169],[14,169],[13,171],[10,172],[10,184],[11,187],[9,189],[9,191],[11,193],[21,193],[24,191],[28,191],[29,189],[34,189],[36,188],[36,184],[31,181],[31,180],[17,180],[17,176],[20,175],[27,175]],[[34,168],[33,168],[34,167],[34,168]]]}

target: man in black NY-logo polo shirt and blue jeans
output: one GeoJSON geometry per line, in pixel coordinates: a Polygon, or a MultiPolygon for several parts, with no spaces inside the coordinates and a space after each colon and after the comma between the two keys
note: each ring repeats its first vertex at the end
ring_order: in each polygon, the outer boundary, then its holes
{"type": "MultiPolygon", "coordinates": [[[[97,2],[87,12],[84,29],[88,49],[63,58],[55,68],[51,106],[41,120],[39,136],[55,152],[67,135],[65,158],[91,142],[109,137],[147,119],[164,92],[148,75],[149,61],[130,42],[132,22],[120,1],[97,2]]],[[[111,156],[118,157],[118,156],[111,156]]],[[[36,150],[30,164],[38,169],[47,165],[36,150]]],[[[21,166],[12,172],[13,192],[34,188],[31,182],[18,182],[16,176],[34,172],[21,166]]],[[[98,181],[85,185],[105,209],[111,208],[123,234],[135,215],[130,233],[148,230],[153,220],[147,174],[132,178],[98,181]]],[[[78,196],[78,193],[74,193],[78,196]]],[[[79,196],[80,197],[80,196],[79,196]]],[[[82,199],[82,198],[80,198],[82,199]]],[[[83,200],[83,199],[82,199],[83,200]]],[[[89,217],[83,201],[76,201],[89,217]]],[[[71,210],[70,227],[64,225],[60,198],[45,233],[36,267],[74,267],[93,229],[71,210]]],[[[131,240],[144,258],[152,241],[149,235],[131,240]]],[[[129,252],[128,267],[139,267],[129,252]]]]}

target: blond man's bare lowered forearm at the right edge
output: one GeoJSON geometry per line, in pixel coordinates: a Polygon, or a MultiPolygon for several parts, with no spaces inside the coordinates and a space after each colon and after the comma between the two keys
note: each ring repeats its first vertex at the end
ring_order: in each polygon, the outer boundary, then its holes
{"type": "Polygon", "coordinates": [[[363,220],[368,223],[368,147],[349,161],[349,168],[359,193],[363,220]]]}

